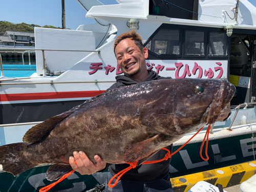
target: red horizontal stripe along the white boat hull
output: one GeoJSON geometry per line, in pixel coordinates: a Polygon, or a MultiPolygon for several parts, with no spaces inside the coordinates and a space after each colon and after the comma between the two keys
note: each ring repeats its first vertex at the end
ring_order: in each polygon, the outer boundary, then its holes
{"type": "Polygon", "coordinates": [[[19,100],[39,100],[39,99],[65,99],[65,98],[82,98],[94,97],[105,91],[75,91],[75,92],[46,92],[46,93],[17,93],[17,94],[0,94],[0,102],[19,101],[19,100]]]}

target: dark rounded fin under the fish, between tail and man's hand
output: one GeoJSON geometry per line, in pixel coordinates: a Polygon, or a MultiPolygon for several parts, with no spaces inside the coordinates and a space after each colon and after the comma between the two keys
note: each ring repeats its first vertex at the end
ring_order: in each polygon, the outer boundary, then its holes
{"type": "Polygon", "coordinates": [[[47,170],[46,179],[49,181],[59,179],[72,170],[70,164],[53,164],[47,170]]]}

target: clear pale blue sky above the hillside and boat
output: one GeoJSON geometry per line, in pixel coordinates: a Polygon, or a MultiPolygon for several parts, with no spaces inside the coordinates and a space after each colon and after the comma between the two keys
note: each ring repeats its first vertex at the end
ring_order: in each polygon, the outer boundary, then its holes
{"type": "MultiPolygon", "coordinates": [[[[117,4],[115,0],[100,1],[105,5],[117,4]]],[[[256,0],[249,2],[256,7],[256,0]]],[[[0,7],[0,20],[62,27],[61,0],[0,0],[0,7]]],[[[65,0],[65,9],[67,28],[75,30],[79,25],[95,23],[94,19],[86,18],[86,10],[76,0],[65,0]]]]}

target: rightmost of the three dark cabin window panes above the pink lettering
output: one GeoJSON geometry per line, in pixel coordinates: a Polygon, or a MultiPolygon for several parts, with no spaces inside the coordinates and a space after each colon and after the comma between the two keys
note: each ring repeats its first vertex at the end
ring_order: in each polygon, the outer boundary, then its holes
{"type": "Polygon", "coordinates": [[[210,32],[209,56],[227,55],[227,35],[210,32]]]}

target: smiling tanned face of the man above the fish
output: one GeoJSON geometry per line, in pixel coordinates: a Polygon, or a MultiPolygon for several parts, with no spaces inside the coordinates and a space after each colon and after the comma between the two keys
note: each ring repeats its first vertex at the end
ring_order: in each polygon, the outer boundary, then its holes
{"type": "Polygon", "coordinates": [[[146,48],[141,52],[134,40],[123,39],[115,49],[117,64],[120,70],[128,77],[136,77],[141,73],[147,73],[146,61],[148,56],[146,48]]]}

